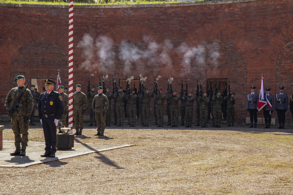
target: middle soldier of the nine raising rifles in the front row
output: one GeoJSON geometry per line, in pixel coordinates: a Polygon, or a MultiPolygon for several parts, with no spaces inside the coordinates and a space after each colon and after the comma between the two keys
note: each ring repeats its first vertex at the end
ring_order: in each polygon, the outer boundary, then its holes
{"type": "Polygon", "coordinates": [[[173,124],[171,127],[178,127],[178,101],[179,101],[179,96],[176,95],[177,91],[173,90],[172,95],[170,94],[169,91],[167,92],[166,99],[171,101],[170,104],[170,114],[171,114],[171,123],[173,124]]]}

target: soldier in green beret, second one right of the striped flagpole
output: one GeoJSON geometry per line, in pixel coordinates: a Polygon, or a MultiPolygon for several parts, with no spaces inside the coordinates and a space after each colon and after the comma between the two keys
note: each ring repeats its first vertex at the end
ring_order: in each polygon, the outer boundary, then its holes
{"type": "Polygon", "coordinates": [[[103,87],[98,87],[98,95],[93,98],[92,109],[95,111],[97,121],[97,134],[95,136],[104,136],[105,131],[105,119],[106,112],[109,107],[109,100],[105,94],[103,94],[103,87]]]}

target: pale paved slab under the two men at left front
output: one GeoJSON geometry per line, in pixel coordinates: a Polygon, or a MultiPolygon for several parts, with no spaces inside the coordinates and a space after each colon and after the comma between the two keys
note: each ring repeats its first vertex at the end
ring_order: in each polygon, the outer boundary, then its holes
{"type": "Polygon", "coordinates": [[[0,167],[28,167],[30,165],[127,146],[134,145],[74,143],[74,148],[71,150],[57,150],[55,158],[43,158],[40,155],[45,152],[45,142],[29,141],[28,147],[26,148],[26,156],[10,156],[10,153],[15,150],[14,141],[3,141],[3,149],[0,150],[0,167]]]}

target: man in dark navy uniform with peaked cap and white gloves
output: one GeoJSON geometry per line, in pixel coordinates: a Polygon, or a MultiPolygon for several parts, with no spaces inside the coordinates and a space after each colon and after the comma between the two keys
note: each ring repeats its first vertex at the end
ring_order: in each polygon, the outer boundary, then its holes
{"type": "Polygon", "coordinates": [[[54,91],[55,82],[51,79],[45,80],[46,92],[41,93],[38,111],[43,125],[45,136],[45,153],[41,157],[55,157],[57,151],[57,125],[63,115],[64,104],[59,92],[54,91]]]}

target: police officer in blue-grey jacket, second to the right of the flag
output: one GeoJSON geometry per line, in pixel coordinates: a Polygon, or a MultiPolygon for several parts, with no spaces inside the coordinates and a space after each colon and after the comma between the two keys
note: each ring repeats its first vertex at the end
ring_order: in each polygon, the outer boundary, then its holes
{"type": "Polygon", "coordinates": [[[280,93],[276,94],[276,111],[278,113],[279,129],[285,129],[285,112],[288,108],[288,95],[284,93],[284,87],[280,86],[280,93]],[[282,123],[282,126],[281,126],[282,123]]]}

